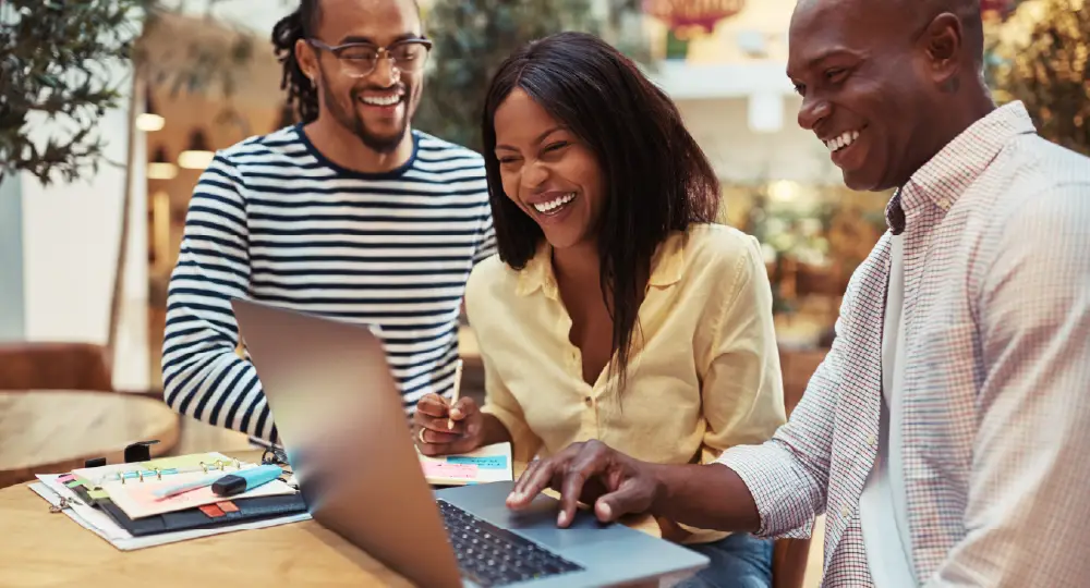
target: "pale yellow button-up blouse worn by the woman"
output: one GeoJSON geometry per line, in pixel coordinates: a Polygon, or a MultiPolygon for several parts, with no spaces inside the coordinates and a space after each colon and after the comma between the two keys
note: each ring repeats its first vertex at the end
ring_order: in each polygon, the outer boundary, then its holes
{"type": "Polygon", "coordinates": [[[522,460],[597,439],[646,462],[708,463],[786,419],[768,277],[758,241],[735,229],[695,225],[659,246],[622,391],[608,366],[594,385],[583,380],[547,244],[521,271],[498,256],[479,264],[465,308],[482,409],[522,460]]]}

